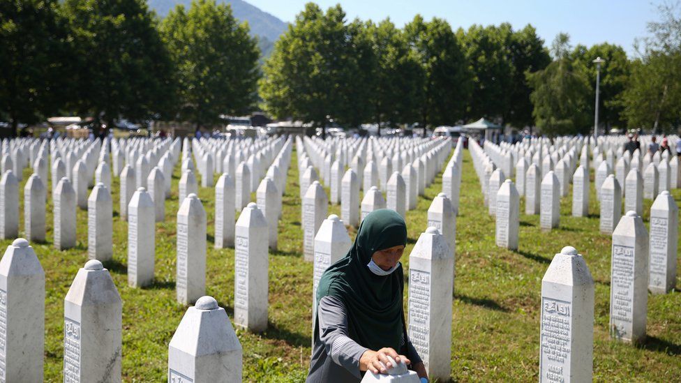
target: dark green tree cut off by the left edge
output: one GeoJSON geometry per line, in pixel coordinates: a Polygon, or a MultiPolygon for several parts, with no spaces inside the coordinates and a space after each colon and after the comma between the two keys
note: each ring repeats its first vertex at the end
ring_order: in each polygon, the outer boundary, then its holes
{"type": "Polygon", "coordinates": [[[19,122],[57,112],[68,75],[66,29],[52,0],[0,2],[0,114],[19,122]]]}

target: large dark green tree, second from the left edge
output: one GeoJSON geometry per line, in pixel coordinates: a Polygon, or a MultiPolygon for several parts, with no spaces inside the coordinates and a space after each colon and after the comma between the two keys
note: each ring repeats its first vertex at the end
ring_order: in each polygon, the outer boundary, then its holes
{"type": "Polygon", "coordinates": [[[143,121],[172,105],[172,63],[143,0],[66,0],[70,100],[76,110],[113,126],[143,121]]]}

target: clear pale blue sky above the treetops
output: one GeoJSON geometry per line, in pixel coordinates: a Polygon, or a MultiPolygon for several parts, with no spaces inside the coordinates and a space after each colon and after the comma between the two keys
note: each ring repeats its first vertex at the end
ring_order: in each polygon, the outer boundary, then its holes
{"type": "MultiPolygon", "coordinates": [[[[307,0],[246,0],[285,22],[293,22],[307,0]]],[[[420,13],[427,20],[442,17],[452,29],[471,24],[510,22],[514,29],[532,24],[546,45],[559,32],[571,44],[622,45],[631,57],[634,39],[645,36],[646,24],[657,20],[660,0],[317,0],[322,9],[340,3],[348,19],[380,21],[386,17],[403,26],[420,13]]]]}

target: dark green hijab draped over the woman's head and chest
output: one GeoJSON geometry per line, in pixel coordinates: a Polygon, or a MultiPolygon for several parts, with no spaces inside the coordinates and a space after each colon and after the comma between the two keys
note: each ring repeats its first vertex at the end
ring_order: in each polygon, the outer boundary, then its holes
{"type": "MultiPolygon", "coordinates": [[[[324,271],[317,287],[317,304],[335,296],[347,310],[348,336],[371,350],[392,347],[398,352],[405,331],[402,266],[377,276],[366,266],[377,250],[407,243],[407,225],[396,211],[380,209],[364,218],[345,257],[324,271]]],[[[315,326],[315,334],[319,331],[315,326]]]]}

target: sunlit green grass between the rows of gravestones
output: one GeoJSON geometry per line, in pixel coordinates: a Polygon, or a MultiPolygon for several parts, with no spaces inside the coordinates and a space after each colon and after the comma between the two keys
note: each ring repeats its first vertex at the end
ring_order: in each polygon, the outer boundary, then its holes
{"type": "MultiPolygon", "coordinates": [[[[452,378],[456,381],[537,381],[539,373],[539,303],[541,278],[555,253],[574,246],[595,282],[594,380],[673,381],[681,376],[681,294],[648,296],[648,338],[641,345],[616,343],[608,335],[611,237],[599,234],[598,204],[591,183],[590,216],[571,217],[571,195],[561,199],[560,227],[539,230],[539,216],[521,213],[518,251],[495,246],[495,225],[483,204],[480,184],[465,151],[461,200],[456,224],[456,279],[452,318],[452,378]]],[[[237,329],[244,349],[244,381],[301,382],[308,370],[311,343],[313,264],[302,256],[296,153],[292,156],[279,223],[277,252],[269,257],[269,326],[261,334],[237,329]]],[[[31,170],[25,169],[20,190],[31,170]]],[[[112,177],[114,259],[105,262],[123,299],[123,379],[126,382],[167,380],[167,350],[186,307],[175,300],[175,227],[179,164],[174,169],[166,219],[156,224],[155,281],[128,287],[127,223],[120,219],[119,179],[112,177]]],[[[200,177],[197,174],[197,177],[200,177]]],[[[593,180],[593,170],[591,171],[593,180]]],[[[217,178],[217,177],[216,177],[217,178]]],[[[407,211],[408,241],[403,265],[419,234],[426,230],[426,211],[441,190],[442,178],[419,196],[407,211]]],[[[49,184],[49,181],[48,181],[49,184]]],[[[199,188],[207,212],[207,295],[214,296],[233,318],[234,250],[214,249],[214,189],[199,188]]],[[[47,187],[47,190],[51,190],[47,187]]],[[[327,195],[329,193],[326,188],[327,195]]],[[[49,193],[49,191],[48,191],[49,193]]],[[[23,193],[20,191],[20,195],[23,193]]],[[[681,190],[673,190],[677,204],[681,190]]],[[[20,197],[23,203],[23,197],[20,197]]],[[[255,201],[255,193],[253,194],[255,201]]],[[[361,200],[361,197],[360,197],[361,200]]],[[[648,225],[650,200],[644,202],[648,225]]],[[[23,206],[20,206],[23,212],[23,206]]],[[[521,202],[521,212],[524,211],[521,202]]],[[[340,206],[329,214],[340,215],[340,206]]],[[[23,213],[20,214],[20,236],[23,213]]],[[[238,217],[238,214],[237,214],[238,217]]],[[[87,211],[77,211],[77,246],[52,246],[52,198],[47,199],[47,242],[31,243],[45,269],[45,381],[61,381],[63,367],[63,299],[78,269],[87,261],[87,211]]],[[[355,230],[350,229],[354,238],[355,230]]],[[[1,241],[6,248],[12,241],[1,241]]],[[[681,260],[681,258],[680,258],[681,260]]],[[[681,271],[681,264],[678,268],[681,271]]],[[[677,278],[677,288],[681,280],[677,278]]],[[[407,288],[405,286],[405,294],[407,288]]],[[[407,299],[405,296],[405,310],[407,299]]]]}

